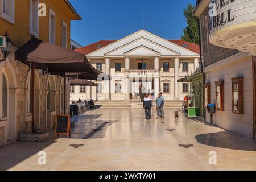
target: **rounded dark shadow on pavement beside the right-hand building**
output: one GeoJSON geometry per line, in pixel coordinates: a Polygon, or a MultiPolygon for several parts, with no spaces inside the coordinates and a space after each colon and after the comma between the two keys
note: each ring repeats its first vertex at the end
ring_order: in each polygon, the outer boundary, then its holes
{"type": "Polygon", "coordinates": [[[229,131],[197,135],[197,142],[207,146],[228,148],[234,150],[256,151],[256,143],[253,140],[241,137],[229,131]]]}

